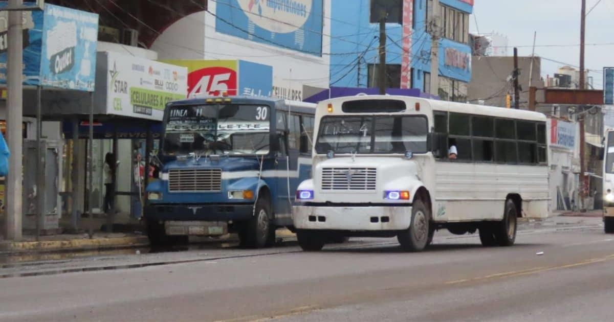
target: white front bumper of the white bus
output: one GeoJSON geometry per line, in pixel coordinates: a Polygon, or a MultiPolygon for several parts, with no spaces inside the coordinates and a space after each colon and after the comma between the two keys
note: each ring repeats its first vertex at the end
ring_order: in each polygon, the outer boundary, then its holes
{"type": "Polygon", "coordinates": [[[343,231],[401,231],[410,228],[411,207],[325,207],[300,205],[292,208],[297,229],[343,231]]]}

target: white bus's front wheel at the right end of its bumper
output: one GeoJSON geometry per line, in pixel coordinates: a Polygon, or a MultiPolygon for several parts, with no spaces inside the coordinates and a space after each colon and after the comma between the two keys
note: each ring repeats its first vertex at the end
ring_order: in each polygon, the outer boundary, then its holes
{"type": "Polygon", "coordinates": [[[414,201],[411,208],[410,228],[397,234],[398,243],[405,251],[422,251],[429,242],[430,214],[421,200],[414,201]]]}

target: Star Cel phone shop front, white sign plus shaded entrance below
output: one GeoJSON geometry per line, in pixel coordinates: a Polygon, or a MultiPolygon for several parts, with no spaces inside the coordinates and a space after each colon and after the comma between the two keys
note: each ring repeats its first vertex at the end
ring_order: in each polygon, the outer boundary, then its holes
{"type": "MultiPolygon", "coordinates": [[[[93,213],[107,210],[104,161],[107,153],[113,153],[119,161],[115,212],[119,213],[118,220],[126,221],[141,216],[142,194],[149,177],[146,156],[159,144],[166,102],[187,97],[187,68],[115,52],[98,52],[97,59],[91,191],[87,152],[92,99],[84,93],[49,91],[42,96],[43,116],[45,120],[61,121],[63,213],[79,217],[79,213],[87,212],[88,202],[93,213]],[[72,191],[78,193],[73,196],[72,191]]],[[[25,113],[31,112],[25,108],[25,113]]]]}

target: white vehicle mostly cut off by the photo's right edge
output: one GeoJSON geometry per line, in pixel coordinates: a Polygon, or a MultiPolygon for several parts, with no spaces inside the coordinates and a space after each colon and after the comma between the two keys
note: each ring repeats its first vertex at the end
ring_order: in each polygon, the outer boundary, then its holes
{"type": "Polygon", "coordinates": [[[604,159],[604,229],[614,233],[614,129],[605,131],[604,159]]]}

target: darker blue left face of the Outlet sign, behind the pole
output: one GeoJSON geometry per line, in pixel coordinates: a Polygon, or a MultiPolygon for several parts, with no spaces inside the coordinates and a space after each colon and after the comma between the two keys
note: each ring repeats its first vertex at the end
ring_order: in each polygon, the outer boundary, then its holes
{"type": "MultiPolygon", "coordinates": [[[[0,8],[7,2],[0,2],[0,8]]],[[[23,85],[39,85],[41,75],[42,11],[23,11],[23,85]]],[[[9,12],[0,11],[0,85],[6,85],[9,12]]]]}

